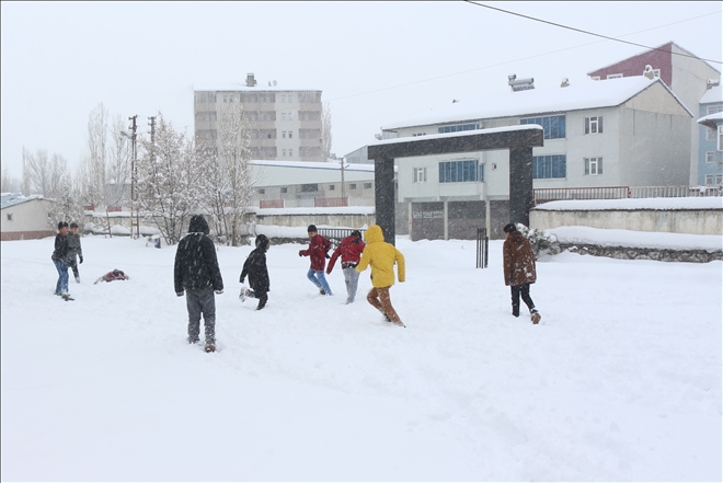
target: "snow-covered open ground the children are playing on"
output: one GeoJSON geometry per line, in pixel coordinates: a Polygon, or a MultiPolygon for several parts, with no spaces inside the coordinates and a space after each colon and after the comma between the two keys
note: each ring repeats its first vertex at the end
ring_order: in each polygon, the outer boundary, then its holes
{"type": "Polygon", "coordinates": [[[721,481],[722,264],[562,253],[539,325],[510,315],[502,242],[398,238],[406,329],[251,246],[220,248],[219,352],[190,346],[175,246],[82,239],[76,301],[53,239],[2,242],[2,481],[721,481]],[[131,278],[93,285],[119,268],[131,278]]]}

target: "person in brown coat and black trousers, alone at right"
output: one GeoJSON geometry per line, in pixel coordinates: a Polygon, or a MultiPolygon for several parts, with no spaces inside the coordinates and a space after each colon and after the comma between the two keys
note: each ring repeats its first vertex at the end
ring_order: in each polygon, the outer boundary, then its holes
{"type": "Polygon", "coordinates": [[[503,268],[505,271],[505,285],[509,286],[513,301],[513,315],[519,317],[519,298],[530,310],[532,323],[540,322],[542,317],[535,308],[530,298],[530,284],[537,280],[535,271],[535,252],[530,242],[517,231],[514,223],[505,225],[505,243],[502,245],[503,268]]]}

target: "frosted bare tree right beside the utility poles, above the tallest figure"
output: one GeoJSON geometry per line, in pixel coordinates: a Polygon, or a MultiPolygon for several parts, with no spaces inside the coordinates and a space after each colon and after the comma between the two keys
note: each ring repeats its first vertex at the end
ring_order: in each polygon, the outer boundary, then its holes
{"type": "Polygon", "coordinates": [[[203,206],[202,166],[193,138],[176,133],[157,116],[156,139],[140,139],[137,160],[137,203],[144,219],[154,223],[168,244],[181,239],[188,217],[203,206]]]}

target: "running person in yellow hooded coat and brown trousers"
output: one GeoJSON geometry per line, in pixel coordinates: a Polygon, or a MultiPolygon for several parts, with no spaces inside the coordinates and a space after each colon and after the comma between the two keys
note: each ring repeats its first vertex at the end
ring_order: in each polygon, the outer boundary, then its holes
{"type": "Polygon", "coordinates": [[[389,298],[389,289],[394,285],[394,263],[397,278],[400,283],[405,280],[404,255],[385,241],[385,234],[378,225],[369,227],[364,238],[367,245],[355,271],[362,273],[367,266],[371,266],[371,290],[367,294],[367,301],[379,310],[388,322],[404,327],[389,298]]]}

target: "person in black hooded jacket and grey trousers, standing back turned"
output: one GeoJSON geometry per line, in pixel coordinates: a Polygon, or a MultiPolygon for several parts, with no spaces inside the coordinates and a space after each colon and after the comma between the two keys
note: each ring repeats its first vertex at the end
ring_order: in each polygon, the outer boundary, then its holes
{"type": "Polygon", "coordinates": [[[216,299],[223,294],[223,279],[218,267],[216,246],[208,237],[208,223],[203,215],[191,217],[188,233],[181,239],[175,252],[173,283],[175,295],[186,292],[188,309],[188,343],[198,343],[200,315],[206,331],[206,352],[216,350],[216,299]]]}

